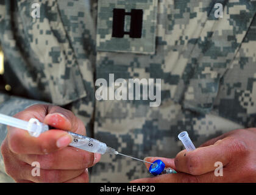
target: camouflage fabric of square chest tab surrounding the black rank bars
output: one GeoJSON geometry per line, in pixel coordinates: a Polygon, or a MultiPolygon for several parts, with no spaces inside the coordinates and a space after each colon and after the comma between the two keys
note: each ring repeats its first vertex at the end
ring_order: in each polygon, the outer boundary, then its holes
{"type": "MultiPolygon", "coordinates": [[[[155,35],[157,27],[157,0],[99,0],[98,31],[96,37],[98,51],[133,52],[155,54],[155,35]],[[112,37],[113,9],[143,10],[143,34],[141,38],[112,37]]],[[[125,29],[130,31],[130,18],[126,18],[125,29]]]]}

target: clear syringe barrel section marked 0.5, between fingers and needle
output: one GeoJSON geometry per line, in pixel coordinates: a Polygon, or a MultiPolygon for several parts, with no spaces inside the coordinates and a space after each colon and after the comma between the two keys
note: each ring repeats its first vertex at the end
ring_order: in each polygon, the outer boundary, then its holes
{"type": "Polygon", "coordinates": [[[73,141],[69,144],[69,146],[77,147],[88,152],[99,154],[105,154],[105,152],[107,151],[107,145],[105,143],[102,143],[101,141],[85,137],[83,135],[79,135],[73,132],[68,133],[73,137],[73,141]]]}

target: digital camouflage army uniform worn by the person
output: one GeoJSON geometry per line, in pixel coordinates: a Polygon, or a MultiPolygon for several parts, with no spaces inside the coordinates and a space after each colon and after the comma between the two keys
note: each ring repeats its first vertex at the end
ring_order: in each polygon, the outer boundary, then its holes
{"type": "MultiPolygon", "coordinates": [[[[0,112],[14,115],[38,101],[60,105],[84,121],[87,135],[137,158],[175,157],[184,129],[199,146],[255,127],[255,12],[255,0],[1,0],[0,41],[13,95],[1,94],[0,112]],[[30,16],[34,2],[40,18],[30,16]],[[215,18],[216,3],[223,18],[215,18]],[[142,37],[112,37],[113,9],[142,9],[142,37]],[[96,101],[94,82],[110,73],[162,79],[162,104],[96,101]]],[[[1,126],[1,140],[5,133],[1,126]]],[[[90,179],[148,176],[140,161],[102,155],[90,179]]]]}

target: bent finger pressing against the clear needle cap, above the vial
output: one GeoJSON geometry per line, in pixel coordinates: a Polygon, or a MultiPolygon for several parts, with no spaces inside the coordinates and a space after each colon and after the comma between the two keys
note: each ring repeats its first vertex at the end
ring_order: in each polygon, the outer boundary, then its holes
{"type": "Polygon", "coordinates": [[[246,151],[246,145],[242,141],[226,137],[210,146],[198,147],[191,152],[179,152],[175,158],[175,166],[177,171],[199,176],[215,170],[216,162],[226,166],[232,158],[241,157],[246,151]]]}

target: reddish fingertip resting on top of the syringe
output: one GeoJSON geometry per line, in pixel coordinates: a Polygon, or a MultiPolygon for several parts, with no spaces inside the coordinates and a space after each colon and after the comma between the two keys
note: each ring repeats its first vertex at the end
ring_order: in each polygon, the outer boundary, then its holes
{"type": "Polygon", "coordinates": [[[51,107],[43,122],[56,129],[68,130],[85,135],[84,123],[73,112],[61,107],[51,107]]]}

